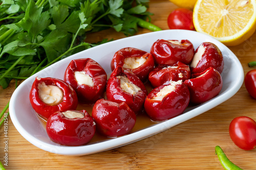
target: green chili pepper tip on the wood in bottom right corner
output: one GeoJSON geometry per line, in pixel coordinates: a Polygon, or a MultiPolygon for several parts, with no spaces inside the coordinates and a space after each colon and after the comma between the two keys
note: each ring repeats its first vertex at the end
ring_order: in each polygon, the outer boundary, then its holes
{"type": "MultiPolygon", "coordinates": [[[[238,167],[237,165],[233,164],[228,158],[227,156],[224,154],[223,150],[221,149],[221,147],[216,146],[215,147],[215,153],[218,155],[218,158],[221,162],[221,165],[224,167],[224,169],[226,170],[241,170],[240,167],[238,167]]],[[[243,169],[242,169],[243,170],[243,169]]]]}

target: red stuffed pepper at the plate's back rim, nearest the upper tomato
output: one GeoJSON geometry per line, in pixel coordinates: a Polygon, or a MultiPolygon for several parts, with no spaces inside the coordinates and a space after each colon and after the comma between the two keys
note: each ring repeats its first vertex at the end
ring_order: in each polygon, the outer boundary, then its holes
{"type": "Polygon", "coordinates": [[[189,40],[181,40],[181,44],[170,41],[179,42],[178,40],[159,39],[153,43],[150,53],[156,64],[173,65],[178,61],[190,64],[195,54],[193,44],[189,40]]]}

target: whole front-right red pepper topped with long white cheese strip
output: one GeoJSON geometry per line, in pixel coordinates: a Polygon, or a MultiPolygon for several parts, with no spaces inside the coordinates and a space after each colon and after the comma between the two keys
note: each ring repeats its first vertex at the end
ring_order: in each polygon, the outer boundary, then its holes
{"type": "Polygon", "coordinates": [[[147,115],[156,121],[173,118],[187,108],[189,90],[181,80],[170,82],[167,86],[154,88],[145,100],[144,108],[147,115]]]}

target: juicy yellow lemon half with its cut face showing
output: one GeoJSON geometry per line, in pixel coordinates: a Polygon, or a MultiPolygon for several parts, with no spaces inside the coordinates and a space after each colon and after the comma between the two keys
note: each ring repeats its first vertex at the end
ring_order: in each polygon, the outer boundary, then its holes
{"type": "Polygon", "coordinates": [[[256,29],[255,0],[198,0],[193,12],[198,32],[213,36],[225,45],[238,45],[256,29]]]}

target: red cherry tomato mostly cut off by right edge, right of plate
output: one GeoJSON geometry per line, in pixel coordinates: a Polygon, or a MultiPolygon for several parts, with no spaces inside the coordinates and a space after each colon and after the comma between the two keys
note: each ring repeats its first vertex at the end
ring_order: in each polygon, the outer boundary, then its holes
{"type": "Polygon", "coordinates": [[[252,69],[247,72],[244,84],[249,94],[256,99],[256,69],[252,69]]]}

